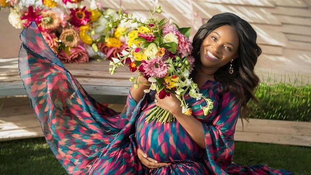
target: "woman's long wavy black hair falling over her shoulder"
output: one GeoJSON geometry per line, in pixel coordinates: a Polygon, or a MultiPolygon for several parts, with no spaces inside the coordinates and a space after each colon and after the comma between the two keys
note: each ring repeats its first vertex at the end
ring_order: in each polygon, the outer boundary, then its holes
{"type": "Polygon", "coordinates": [[[213,16],[206,24],[203,24],[195,34],[192,42],[195,69],[191,73],[191,78],[196,81],[196,74],[202,64],[199,51],[203,40],[213,30],[223,25],[232,26],[238,33],[238,58],[232,63],[233,74],[229,74],[230,63],[228,63],[215,72],[214,78],[223,86],[221,93],[230,91],[234,94],[242,107],[240,117],[248,118],[250,109],[247,102],[250,99],[258,102],[254,90],[259,85],[259,78],[254,72],[254,66],[261,54],[261,49],[256,43],[257,34],[248,22],[233,13],[226,12],[213,16]]]}

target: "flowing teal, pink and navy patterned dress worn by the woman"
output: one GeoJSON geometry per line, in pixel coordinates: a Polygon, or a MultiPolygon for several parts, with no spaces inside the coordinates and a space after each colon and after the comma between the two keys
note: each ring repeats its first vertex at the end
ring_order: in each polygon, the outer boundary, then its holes
{"type": "Polygon", "coordinates": [[[185,95],[193,116],[202,122],[206,148],[201,149],[178,121],[145,122],[156,105],[154,93],[136,104],[129,93],[127,111],[117,113],[96,102],[66,70],[33,22],[20,35],[19,71],[42,131],[57,160],[71,175],[290,175],[265,165],[232,163],[235,124],[240,106],[231,93],[208,81],[201,93],[214,102],[213,112],[200,110],[204,100],[185,95]],[[155,170],[137,157],[137,148],[158,162],[155,170]],[[253,172],[253,173],[251,173],[253,172]]]}

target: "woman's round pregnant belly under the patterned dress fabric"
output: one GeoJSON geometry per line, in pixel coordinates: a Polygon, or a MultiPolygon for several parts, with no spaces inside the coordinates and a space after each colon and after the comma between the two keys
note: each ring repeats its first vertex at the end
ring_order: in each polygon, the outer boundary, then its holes
{"type": "Polygon", "coordinates": [[[199,160],[203,156],[203,150],[177,121],[147,123],[140,117],[136,124],[138,147],[157,161],[199,160]]]}

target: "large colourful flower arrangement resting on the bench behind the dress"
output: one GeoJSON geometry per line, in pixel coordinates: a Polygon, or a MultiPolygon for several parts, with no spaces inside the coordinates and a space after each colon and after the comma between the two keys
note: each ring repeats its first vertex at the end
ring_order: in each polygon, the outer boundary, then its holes
{"type": "Polygon", "coordinates": [[[0,0],[15,28],[35,21],[50,48],[63,63],[84,63],[116,57],[126,49],[127,28],[110,23],[123,13],[103,9],[96,0],[0,0]],[[118,14],[119,13],[119,14],[118,14]],[[109,24],[109,25],[108,25],[109,24]]]}

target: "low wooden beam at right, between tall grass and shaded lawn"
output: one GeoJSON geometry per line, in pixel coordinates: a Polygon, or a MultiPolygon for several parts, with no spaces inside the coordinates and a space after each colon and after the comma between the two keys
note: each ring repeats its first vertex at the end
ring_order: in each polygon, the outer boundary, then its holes
{"type": "Polygon", "coordinates": [[[250,119],[239,120],[234,140],[311,147],[311,122],[250,119]]]}

